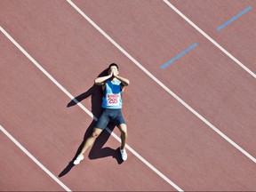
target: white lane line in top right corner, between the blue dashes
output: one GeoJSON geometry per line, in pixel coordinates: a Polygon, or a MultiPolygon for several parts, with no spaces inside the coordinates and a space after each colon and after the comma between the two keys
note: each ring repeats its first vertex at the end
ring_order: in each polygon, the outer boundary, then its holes
{"type": "Polygon", "coordinates": [[[237,60],[232,54],[230,54],[227,50],[225,50],[222,46],[220,46],[220,44],[218,44],[216,41],[214,41],[212,39],[212,37],[208,36],[201,28],[198,28],[196,26],[195,23],[193,23],[191,20],[189,20],[182,12],[180,12],[175,6],[173,6],[168,0],[163,0],[165,4],[167,4],[168,6],[170,6],[172,8],[172,10],[176,13],[178,13],[180,15],[180,17],[182,17],[184,20],[186,20],[193,28],[196,28],[196,30],[201,33],[205,38],[207,38],[210,42],[212,42],[212,44],[214,44],[216,47],[218,47],[220,49],[221,52],[224,52],[226,55],[228,55],[228,57],[231,60],[234,60],[236,62],[237,65],[239,65],[241,68],[244,68],[245,71],[247,71],[251,76],[253,76],[254,78],[256,78],[256,75],[252,72],[252,70],[250,70],[249,68],[247,68],[246,66],[244,66],[244,64],[242,62],[240,62],[239,60],[237,60]]]}

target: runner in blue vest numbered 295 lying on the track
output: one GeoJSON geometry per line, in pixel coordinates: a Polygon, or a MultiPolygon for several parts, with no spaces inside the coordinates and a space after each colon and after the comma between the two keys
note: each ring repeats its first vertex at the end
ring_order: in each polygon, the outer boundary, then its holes
{"type": "Polygon", "coordinates": [[[119,69],[116,63],[112,63],[108,67],[108,76],[101,76],[95,79],[94,83],[102,86],[103,99],[101,108],[103,113],[100,116],[97,124],[93,128],[92,135],[85,140],[84,147],[81,153],[76,157],[74,164],[79,164],[84,159],[84,153],[90,147],[92,147],[96,138],[106,128],[109,122],[114,122],[121,132],[121,147],[120,153],[122,159],[127,159],[125,151],[125,142],[127,140],[127,126],[122,115],[122,94],[124,92],[124,86],[130,84],[129,80],[118,76],[119,69]]]}

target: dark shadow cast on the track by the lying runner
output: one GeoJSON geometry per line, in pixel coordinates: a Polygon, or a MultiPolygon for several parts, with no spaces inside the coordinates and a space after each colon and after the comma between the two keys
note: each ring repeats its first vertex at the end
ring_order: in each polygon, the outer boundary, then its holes
{"type": "MultiPolygon", "coordinates": [[[[99,76],[108,76],[108,68],[105,69],[104,71],[102,71],[99,76]]],[[[98,86],[95,84],[93,84],[92,87],[87,92],[84,92],[84,93],[78,95],[74,100],[71,100],[68,103],[67,108],[75,106],[78,102],[80,102],[90,96],[92,98],[92,114],[93,114],[93,116],[96,116],[97,118],[99,118],[102,113],[101,101],[102,101],[103,94],[102,94],[101,86],[98,86]]],[[[84,133],[84,140],[82,141],[81,145],[77,149],[76,155],[69,162],[68,166],[62,172],[60,172],[59,177],[66,175],[73,168],[73,166],[75,166],[73,164],[73,162],[76,160],[76,156],[79,155],[82,148],[84,147],[85,140],[87,140],[87,138],[89,138],[91,136],[95,123],[96,122],[94,120],[92,120],[92,123],[89,125],[86,132],[84,133]]],[[[115,124],[110,123],[110,124],[108,124],[108,129],[112,132],[114,130],[115,126],[116,126],[115,124]]],[[[119,147],[116,149],[108,148],[108,147],[103,148],[103,146],[107,142],[109,136],[110,136],[110,134],[106,130],[101,132],[100,136],[95,140],[91,150],[89,149],[90,152],[89,152],[88,157],[89,157],[89,159],[97,159],[97,158],[112,156],[113,158],[116,159],[116,162],[118,164],[122,164],[123,160],[122,160],[120,152],[119,152],[119,147]]],[[[83,162],[82,162],[82,164],[83,164],[83,162]]]]}

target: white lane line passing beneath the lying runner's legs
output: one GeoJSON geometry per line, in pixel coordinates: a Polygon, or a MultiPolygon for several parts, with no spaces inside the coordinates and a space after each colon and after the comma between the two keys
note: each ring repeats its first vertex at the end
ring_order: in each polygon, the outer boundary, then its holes
{"type": "MultiPolygon", "coordinates": [[[[42,66],[39,65],[39,63],[34,60],[29,54],[28,52],[26,52],[21,46],[20,44],[18,44],[13,38],[12,36],[10,36],[5,30],[4,28],[2,28],[0,26],[0,29],[1,31],[4,33],[4,35],[12,42],[12,44],[14,44],[19,50],[20,52],[22,52],[23,54],[25,54],[29,60],[32,61],[32,63],[34,63],[36,65],[37,68],[39,68],[45,76],[47,76],[54,84],[56,84],[60,90],[62,92],[64,92],[65,94],[68,95],[68,97],[71,99],[71,100],[75,100],[77,105],[82,108],[89,116],[91,116],[95,121],[97,121],[97,117],[96,116],[93,116],[92,112],[90,110],[88,110],[87,108],[85,108],[81,103],[79,103],[78,100],[75,99],[75,97],[73,95],[71,95],[61,84],[59,84],[59,82],[57,82],[44,68],[42,68],[42,66]]],[[[111,132],[108,128],[107,128],[107,131],[109,133],[111,133],[111,135],[116,139],[118,140],[119,142],[121,142],[121,139],[116,135],[115,132],[111,132]]],[[[134,156],[137,156],[137,158],[140,159],[140,161],[143,163],[143,164],[146,164],[152,171],[156,172],[157,175],[159,175],[163,180],[165,180],[166,182],[168,182],[170,185],[172,185],[173,188],[176,188],[178,191],[183,191],[180,187],[178,187],[174,182],[172,182],[172,180],[170,180],[169,178],[167,178],[162,172],[159,172],[156,167],[154,167],[152,164],[150,164],[145,158],[143,158],[142,156],[140,156],[134,149],[132,149],[128,144],[125,145],[125,147],[127,149],[129,149],[132,154],[134,156]]]]}

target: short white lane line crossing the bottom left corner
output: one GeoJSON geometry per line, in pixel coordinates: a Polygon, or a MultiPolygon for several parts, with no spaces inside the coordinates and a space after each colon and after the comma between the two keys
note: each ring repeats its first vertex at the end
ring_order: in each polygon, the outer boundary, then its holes
{"type": "Polygon", "coordinates": [[[26,148],[24,148],[18,140],[15,140],[15,138],[12,137],[12,135],[7,132],[4,127],[0,124],[0,130],[4,132],[4,134],[12,140],[12,142],[18,146],[32,161],[34,161],[44,172],[46,172],[53,180],[55,180],[62,188],[64,188],[66,191],[71,191],[64,183],[62,183],[57,177],[55,177],[52,172],[50,172],[43,164],[41,164],[35,156],[32,156],[26,148]]]}

